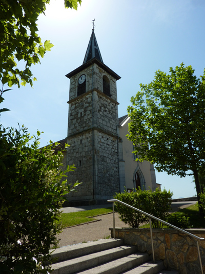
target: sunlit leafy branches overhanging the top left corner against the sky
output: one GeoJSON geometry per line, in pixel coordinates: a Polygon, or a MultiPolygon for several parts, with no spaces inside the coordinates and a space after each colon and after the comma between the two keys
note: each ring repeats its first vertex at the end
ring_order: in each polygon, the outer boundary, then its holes
{"type": "MultiPolygon", "coordinates": [[[[50,0],[1,0],[0,3],[0,80],[11,87],[21,83],[32,86],[31,65],[40,62],[53,46],[42,42],[37,20],[50,0]],[[24,64],[19,64],[23,61],[24,64]],[[20,67],[25,66],[21,69],[20,67]]],[[[66,8],[77,9],[81,0],[65,0],[66,8]]]]}

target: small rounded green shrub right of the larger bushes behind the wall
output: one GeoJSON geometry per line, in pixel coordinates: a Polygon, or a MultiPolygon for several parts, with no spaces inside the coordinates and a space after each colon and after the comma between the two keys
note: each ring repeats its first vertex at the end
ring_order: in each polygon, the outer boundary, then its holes
{"type": "Polygon", "coordinates": [[[178,228],[191,228],[189,217],[183,212],[174,212],[167,216],[167,222],[178,228]]]}

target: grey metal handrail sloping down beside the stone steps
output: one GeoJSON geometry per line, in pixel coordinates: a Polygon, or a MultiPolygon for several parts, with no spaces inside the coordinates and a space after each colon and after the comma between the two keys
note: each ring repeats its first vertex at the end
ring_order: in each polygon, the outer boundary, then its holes
{"type": "Polygon", "coordinates": [[[172,228],[174,228],[174,229],[177,229],[177,230],[179,230],[179,231],[182,232],[182,233],[188,234],[189,236],[191,236],[191,237],[193,237],[193,238],[196,239],[196,245],[197,245],[198,256],[199,256],[199,263],[200,263],[201,273],[203,274],[203,268],[202,268],[202,263],[201,263],[201,255],[200,255],[198,240],[204,241],[205,238],[200,238],[200,237],[198,237],[198,236],[196,236],[196,235],[194,235],[194,234],[192,234],[192,233],[190,233],[190,232],[188,232],[188,231],[186,231],[186,230],[183,230],[183,229],[181,229],[181,228],[179,228],[179,227],[173,226],[173,225],[167,223],[166,221],[163,221],[163,220],[161,220],[161,219],[159,219],[159,218],[157,218],[157,217],[155,217],[155,216],[153,216],[153,215],[151,215],[151,214],[149,214],[149,213],[147,213],[147,212],[144,212],[144,211],[142,211],[142,210],[140,210],[140,209],[138,209],[138,208],[135,208],[135,207],[133,207],[133,206],[130,206],[130,205],[124,203],[124,202],[121,202],[120,200],[112,199],[112,200],[108,200],[108,202],[112,202],[112,203],[113,203],[113,238],[114,238],[114,239],[115,239],[115,215],[114,215],[114,214],[115,214],[115,210],[114,210],[114,202],[118,202],[118,203],[120,203],[120,204],[122,204],[122,205],[125,205],[125,206],[127,206],[127,207],[130,207],[130,208],[132,208],[132,209],[134,209],[134,210],[136,210],[136,211],[138,211],[138,212],[140,212],[140,213],[142,213],[142,214],[144,214],[144,215],[147,215],[147,216],[149,217],[150,235],[151,235],[151,242],[152,242],[152,255],[153,255],[153,261],[154,261],[154,262],[155,262],[155,258],[154,258],[154,244],[153,244],[153,235],[152,235],[152,223],[151,223],[151,218],[153,218],[153,219],[155,219],[156,221],[159,221],[159,222],[161,222],[161,223],[163,223],[163,224],[165,224],[165,225],[167,225],[167,226],[170,226],[170,227],[172,227],[172,228]]]}

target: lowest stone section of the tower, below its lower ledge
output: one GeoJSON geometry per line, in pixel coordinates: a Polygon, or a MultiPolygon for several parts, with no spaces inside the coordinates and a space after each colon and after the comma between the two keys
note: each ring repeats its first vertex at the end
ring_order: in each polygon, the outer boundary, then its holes
{"type": "MultiPolygon", "coordinates": [[[[95,180],[94,198],[109,199],[119,192],[117,139],[104,132],[94,131],[95,180]]],[[[75,172],[68,174],[68,181],[83,182],[69,194],[69,200],[93,198],[92,131],[68,138],[68,165],[75,165],[75,172]]]]}

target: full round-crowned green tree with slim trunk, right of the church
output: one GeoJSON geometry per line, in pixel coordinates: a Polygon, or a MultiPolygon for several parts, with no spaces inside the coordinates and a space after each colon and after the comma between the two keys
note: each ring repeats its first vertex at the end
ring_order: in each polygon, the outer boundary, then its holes
{"type": "Polygon", "coordinates": [[[182,63],[170,74],[156,71],[150,84],[132,97],[128,139],[138,160],[157,171],[180,177],[194,175],[199,201],[199,178],[205,168],[205,70],[199,79],[182,63]],[[138,146],[140,144],[140,147],[138,146]]]}

